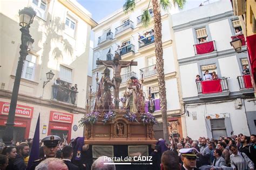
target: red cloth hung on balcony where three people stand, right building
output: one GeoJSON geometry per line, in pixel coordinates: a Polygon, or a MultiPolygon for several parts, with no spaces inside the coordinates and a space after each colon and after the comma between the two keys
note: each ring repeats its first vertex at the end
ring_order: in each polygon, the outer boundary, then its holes
{"type": "Polygon", "coordinates": [[[202,81],[202,93],[219,93],[222,91],[220,80],[202,81]]]}

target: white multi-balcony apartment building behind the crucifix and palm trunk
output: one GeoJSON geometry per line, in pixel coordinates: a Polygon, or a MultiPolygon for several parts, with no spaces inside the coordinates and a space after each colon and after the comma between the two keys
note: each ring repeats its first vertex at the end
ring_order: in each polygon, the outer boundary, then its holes
{"type": "MultiPolygon", "coordinates": [[[[147,9],[148,5],[149,1],[137,1],[136,9],[134,9],[133,12],[125,14],[123,9],[120,9],[112,13],[110,16],[102,19],[102,21],[99,22],[99,25],[93,29],[95,32],[95,44],[93,49],[92,84],[93,91],[95,92],[97,89],[97,73],[100,80],[102,75],[101,73],[103,73],[103,70],[105,69],[105,66],[97,66],[96,61],[98,59],[112,60],[115,53],[118,53],[121,55],[122,61],[133,60],[138,62],[138,66],[129,66],[122,69],[122,84],[120,85],[119,98],[123,97],[127,81],[130,77],[135,76],[141,80],[143,74],[143,91],[146,95],[146,101],[149,101],[148,91],[149,88],[151,88],[152,97],[157,105],[156,108],[160,108],[153,36],[154,28],[152,6],[149,6],[151,24],[148,27],[144,27],[142,24],[142,13],[147,9]]],[[[186,132],[181,128],[182,121],[179,116],[181,115],[181,101],[177,70],[178,63],[172,46],[173,33],[171,29],[172,22],[170,16],[170,12],[165,12],[164,10],[161,11],[167,116],[170,121],[170,133],[177,131],[181,136],[183,136],[186,132]],[[173,124],[175,129],[171,128],[171,124],[173,124]]],[[[112,78],[113,70],[110,70],[112,78]]],[[[161,124],[160,109],[156,109],[154,115],[161,124]]],[[[163,128],[161,125],[156,125],[154,127],[156,138],[160,138],[162,136],[162,130],[163,128]]]]}

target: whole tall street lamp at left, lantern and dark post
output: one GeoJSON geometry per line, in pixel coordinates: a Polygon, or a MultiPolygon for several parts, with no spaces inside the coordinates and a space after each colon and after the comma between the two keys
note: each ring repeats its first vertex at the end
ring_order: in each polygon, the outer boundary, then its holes
{"type": "Polygon", "coordinates": [[[4,130],[3,141],[6,145],[12,144],[12,138],[14,133],[14,119],[15,119],[15,111],[18,99],[18,91],[19,91],[19,84],[21,83],[21,74],[22,68],[24,64],[24,60],[26,55],[28,55],[28,51],[30,51],[33,43],[33,39],[29,34],[29,27],[30,24],[33,23],[33,18],[36,16],[36,12],[31,8],[24,8],[23,10],[19,10],[19,26],[21,26],[21,51],[19,51],[19,61],[15,75],[14,81],[14,88],[12,89],[11,95],[11,103],[10,103],[10,110],[8,114],[7,123],[4,130]]]}

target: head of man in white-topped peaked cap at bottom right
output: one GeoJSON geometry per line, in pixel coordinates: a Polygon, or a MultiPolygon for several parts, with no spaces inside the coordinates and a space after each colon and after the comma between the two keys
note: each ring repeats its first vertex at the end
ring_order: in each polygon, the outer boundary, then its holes
{"type": "Polygon", "coordinates": [[[197,162],[197,153],[196,148],[183,148],[180,149],[181,160],[183,161],[183,166],[181,170],[197,170],[199,168],[196,167],[197,162]]]}

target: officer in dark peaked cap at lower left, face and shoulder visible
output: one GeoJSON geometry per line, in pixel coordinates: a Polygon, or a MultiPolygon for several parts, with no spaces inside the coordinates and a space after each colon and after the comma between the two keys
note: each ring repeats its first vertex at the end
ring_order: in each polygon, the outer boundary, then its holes
{"type": "Polygon", "coordinates": [[[34,170],[41,161],[46,158],[55,158],[58,150],[58,143],[60,141],[60,137],[55,135],[46,136],[42,139],[44,143],[44,158],[33,161],[33,164],[30,167],[30,170],[34,170]]]}

